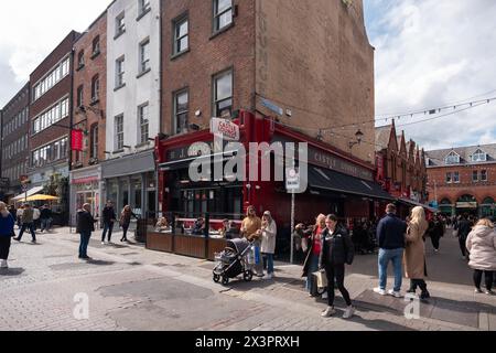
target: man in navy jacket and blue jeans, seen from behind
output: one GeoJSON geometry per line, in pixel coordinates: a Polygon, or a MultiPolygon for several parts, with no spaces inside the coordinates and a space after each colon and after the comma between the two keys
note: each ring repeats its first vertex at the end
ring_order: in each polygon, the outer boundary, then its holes
{"type": "Polygon", "coordinates": [[[377,239],[379,242],[379,287],[374,288],[376,293],[386,296],[389,293],[396,298],[401,298],[402,285],[402,259],[405,250],[405,234],[407,223],[396,215],[396,205],[388,204],[386,216],[380,220],[377,226],[377,239]],[[386,292],[388,280],[388,265],[392,263],[395,272],[395,287],[386,292]]]}

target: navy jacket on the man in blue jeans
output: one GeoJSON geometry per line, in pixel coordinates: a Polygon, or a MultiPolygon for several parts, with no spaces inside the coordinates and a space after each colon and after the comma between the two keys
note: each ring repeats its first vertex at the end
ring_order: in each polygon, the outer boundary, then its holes
{"type": "Polygon", "coordinates": [[[377,226],[377,240],[381,249],[393,250],[405,248],[407,223],[397,215],[388,213],[377,226]]]}

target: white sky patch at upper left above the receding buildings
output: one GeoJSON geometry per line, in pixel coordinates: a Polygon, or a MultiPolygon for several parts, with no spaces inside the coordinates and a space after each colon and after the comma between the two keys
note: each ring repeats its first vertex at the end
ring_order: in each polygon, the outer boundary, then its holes
{"type": "Polygon", "coordinates": [[[85,31],[110,3],[101,0],[17,0],[0,4],[0,106],[15,95],[29,75],[71,32],[85,31]],[[8,73],[3,67],[13,73],[8,73]],[[10,78],[10,79],[9,79],[10,78]],[[8,87],[8,88],[6,88],[8,87]],[[9,93],[10,92],[10,93],[9,93]]]}

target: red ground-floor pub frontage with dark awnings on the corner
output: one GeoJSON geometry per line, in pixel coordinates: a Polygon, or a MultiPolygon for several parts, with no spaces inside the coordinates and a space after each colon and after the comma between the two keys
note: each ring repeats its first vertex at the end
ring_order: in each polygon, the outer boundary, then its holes
{"type": "MultiPolygon", "coordinates": [[[[249,151],[250,142],[269,145],[280,142],[284,149],[288,142],[293,142],[295,146],[301,142],[308,143],[308,189],[304,193],[295,195],[295,224],[314,224],[319,214],[333,213],[344,224],[351,226],[356,220],[366,221],[384,215],[386,204],[396,200],[375,182],[375,165],[368,162],[259,114],[240,110],[233,122],[239,128],[238,142],[245,147],[246,151],[249,151]]],[[[278,224],[276,256],[279,259],[288,259],[291,252],[292,197],[287,192],[283,181],[273,181],[277,161],[273,151],[270,157],[271,181],[229,182],[220,179],[214,181],[214,178],[211,178],[193,182],[190,179],[188,169],[198,156],[197,151],[191,149],[195,142],[205,142],[213,147],[214,135],[211,130],[202,130],[184,136],[161,136],[155,139],[159,213],[163,214],[169,222],[174,221],[176,224],[179,221],[182,225],[174,226],[173,234],[187,237],[185,227],[191,227],[200,216],[208,218],[209,228],[214,231],[214,234],[225,218],[234,221],[239,227],[247,207],[254,205],[259,216],[265,211],[271,212],[278,224]]],[[[228,153],[223,154],[224,162],[229,159],[226,154],[228,153]]],[[[213,154],[208,157],[213,158],[213,154]]],[[[295,158],[298,159],[298,153],[295,158]]],[[[258,153],[257,159],[260,173],[261,153],[258,153]]],[[[246,158],[247,173],[250,170],[249,162],[250,158],[246,158]]],[[[195,257],[211,259],[213,257],[212,248],[205,249],[205,253],[203,249],[197,249],[196,253],[188,252],[181,244],[174,246],[176,240],[165,240],[163,236],[164,234],[149,232],[148,247],[195,257]]],[[[192,237],[190,236],[190,242],[193,240],[192,237]]]]}

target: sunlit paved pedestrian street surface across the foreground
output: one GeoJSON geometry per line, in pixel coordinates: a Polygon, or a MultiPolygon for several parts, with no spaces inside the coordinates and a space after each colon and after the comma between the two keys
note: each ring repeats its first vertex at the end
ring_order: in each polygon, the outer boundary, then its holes
{"type": "Polygon", "coordinates": [[[370,293],[375,255],[357,256],[347,269],[356,315],[341,319],[338,296],[338,315],[323,319],[325,302],[308,297],[300,266],[277,264],[274,280],[223,287],[212,280],[212,263],[98,238],[89,263],[77,259],[78,236],[68,228],[40,234],[37,245],[14,243],[10,268],[0,271],[0,330],[496,330],[496,298],[474,295],[471,271],[449,236],[440,254],[428,247],[433,299],[410,320],[403,311],[411,302],[370,293]],[[86,299],[88,317],[80,318],[86,299]]]}

